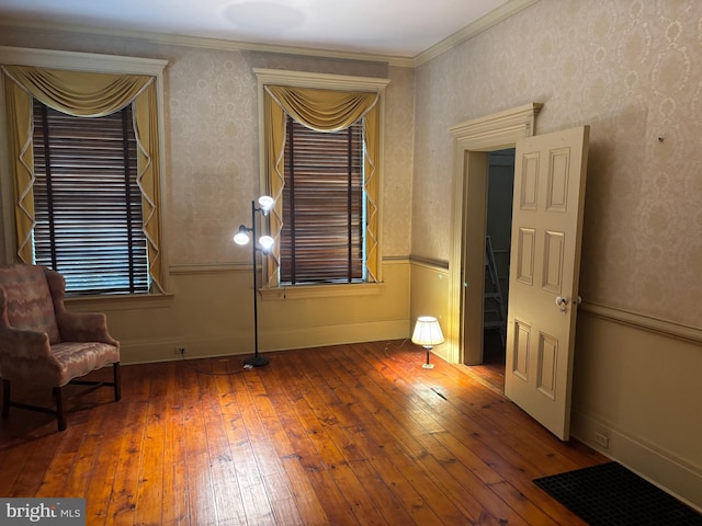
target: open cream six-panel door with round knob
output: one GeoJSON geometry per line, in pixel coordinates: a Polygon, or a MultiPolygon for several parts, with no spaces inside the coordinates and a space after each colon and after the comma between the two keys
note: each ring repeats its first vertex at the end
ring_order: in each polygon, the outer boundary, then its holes
{"type": "Polygon", "coordinates": [[[589,127],[517,142],[505,395],[569,437],[589,127]]]}

